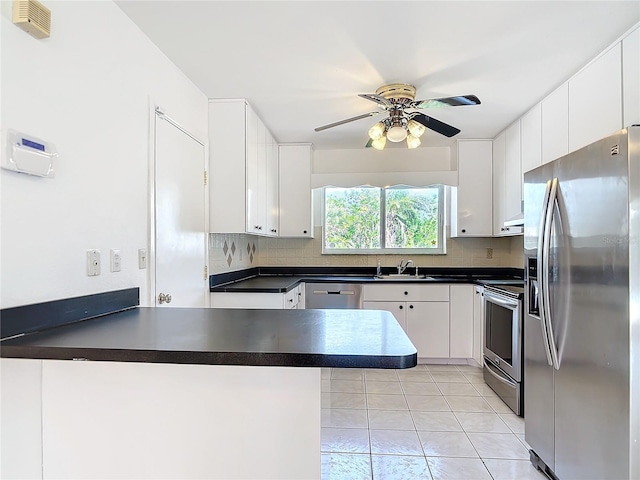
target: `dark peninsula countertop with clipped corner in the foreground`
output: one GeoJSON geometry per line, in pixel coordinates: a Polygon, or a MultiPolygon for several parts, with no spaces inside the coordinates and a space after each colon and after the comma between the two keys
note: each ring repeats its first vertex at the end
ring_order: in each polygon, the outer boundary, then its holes
{"type": "Polygon", "coordinates": [[[5,358],[409,368],[417,352],[378,310],[137,307],[2,341],[5,358]]]}

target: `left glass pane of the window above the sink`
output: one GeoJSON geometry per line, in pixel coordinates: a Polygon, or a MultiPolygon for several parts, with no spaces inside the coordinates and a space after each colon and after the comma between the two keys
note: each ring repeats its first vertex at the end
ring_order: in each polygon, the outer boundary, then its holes
{"type": "Polygon", "coordinates": [[[325,189],[325,250],[380,248],[380,189],[325,189]]]}

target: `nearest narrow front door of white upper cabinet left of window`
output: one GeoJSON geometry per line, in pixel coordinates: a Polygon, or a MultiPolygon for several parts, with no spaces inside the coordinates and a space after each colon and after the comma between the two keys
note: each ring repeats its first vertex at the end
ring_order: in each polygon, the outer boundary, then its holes
{"type": "MultiPolygon", "coordinates": [[[[247,105],[247,233],[260,233],[260,177],[258,165],[258,138],[259,124],[258,115],[247,105]]],[[[212,175],[215,175],[212,172],[212,175]]],[[[224,208],[227,202],[215,205],[214,208],[224,208]]]]}

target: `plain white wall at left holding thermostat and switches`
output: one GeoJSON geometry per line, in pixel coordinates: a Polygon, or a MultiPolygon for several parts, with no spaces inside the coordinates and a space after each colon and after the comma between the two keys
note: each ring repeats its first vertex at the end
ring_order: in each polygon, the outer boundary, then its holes
{"type": "Polygon", "coordinates": [[[149,108],[206,138],[207,99],[113,2],[43,3],[52,35],[36,40],[0,2],[2,139],[20,130],[60,155],[54,179],[0,170],[0,307],[136,286],[144,305],[149,108]],[[102,254],[98,277],[86,275],[90,248],[102,254]],[[119,273],[111,248],[122,253],[119,273]]]}

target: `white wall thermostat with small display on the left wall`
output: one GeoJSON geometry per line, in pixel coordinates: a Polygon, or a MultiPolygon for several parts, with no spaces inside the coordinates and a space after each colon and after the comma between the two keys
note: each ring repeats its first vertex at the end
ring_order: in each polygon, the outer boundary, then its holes
{"type": "Polygon", "coordinates": [[[2,168],[38,177],[54,176],[53,160],[58,153],[52,143],[26,133],[7,130],[6,148],[2,168]]]}

